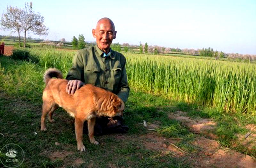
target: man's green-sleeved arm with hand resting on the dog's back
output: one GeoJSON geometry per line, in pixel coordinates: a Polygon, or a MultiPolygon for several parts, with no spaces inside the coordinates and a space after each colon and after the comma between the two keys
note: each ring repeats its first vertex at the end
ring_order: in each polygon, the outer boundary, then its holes
{"type": "Polygon", "coordinates": [[[82,55],[79,52],[76,52],[76,55],[73,59],[73,65],[66,77],[66,79],[69,80],[66,87],[66,91],[68,92],[68,94],[71,93],[71,95],[73,95],[76,90],[78,90],[82,85],[84,85],[84,82],[82,82],[84,78],[83,70],[84,64],[82,55]]]}

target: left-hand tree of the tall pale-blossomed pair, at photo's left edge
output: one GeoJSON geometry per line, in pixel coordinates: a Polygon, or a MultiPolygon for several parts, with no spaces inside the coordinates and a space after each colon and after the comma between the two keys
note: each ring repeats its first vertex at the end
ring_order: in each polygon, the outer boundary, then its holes
{"type": "Polygon", "coordinates": [[[19,46],[20,45],[20,32],[22,31],[22,26],[20,23],[21,13],[23,12],[17,7],[8,7],[6,9],[6,13],[2,14],[1,23],[3,30],[10,30],[12,33],[18,32],[19,35],[19,46]]]}

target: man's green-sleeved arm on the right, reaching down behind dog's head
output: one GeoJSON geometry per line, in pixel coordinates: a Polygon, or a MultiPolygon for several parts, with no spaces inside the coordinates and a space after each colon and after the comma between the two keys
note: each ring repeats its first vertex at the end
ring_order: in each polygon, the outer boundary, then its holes
{"type": "Polygon", "coordinates": [[[130,87],[128,86],[128,80],[127,80],[127,74],[125,69],[125,63],[124,61],[124,68],[122,70],[121,79],[118,84],[119,92],[117,93],[117,96],[122,99],[124,102],[127,101],[129,97],[130,87]]]}

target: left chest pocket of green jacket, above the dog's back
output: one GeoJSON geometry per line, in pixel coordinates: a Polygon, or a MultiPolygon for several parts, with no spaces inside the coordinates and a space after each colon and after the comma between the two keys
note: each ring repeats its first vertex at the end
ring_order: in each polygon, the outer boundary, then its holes
{"type": "Polygon", "coordinates": [[[97,79],[99,79],[100,77],[100,69],[96,66],[86,67],[86,69],[84,70],[84,74],[85,83],[95,85],[97,79]]]}

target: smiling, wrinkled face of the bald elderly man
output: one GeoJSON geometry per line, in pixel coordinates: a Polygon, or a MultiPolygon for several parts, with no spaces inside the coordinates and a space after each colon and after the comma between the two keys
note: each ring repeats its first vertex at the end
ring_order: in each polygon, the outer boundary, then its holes
{"type": "Polygon", "coordinates": [[[92,29],[92,35],[96,38],[98,47],[102,51],[108,52],[112,40],[116,38],[116,31],[109,20],[101,20],[96,29],[92,29]]]}

